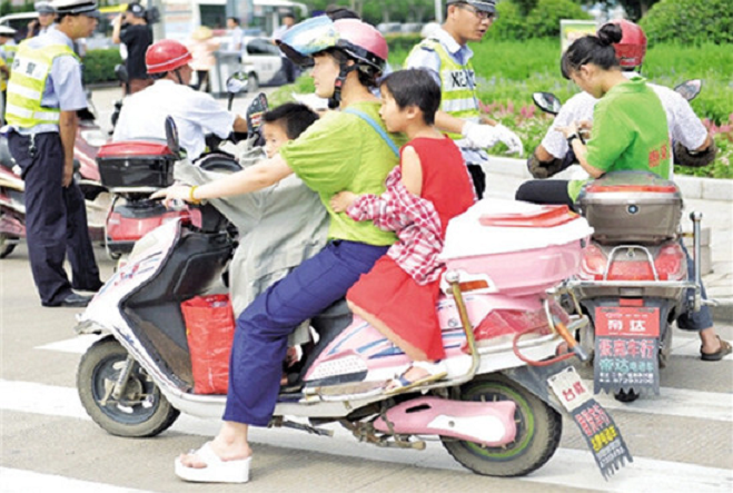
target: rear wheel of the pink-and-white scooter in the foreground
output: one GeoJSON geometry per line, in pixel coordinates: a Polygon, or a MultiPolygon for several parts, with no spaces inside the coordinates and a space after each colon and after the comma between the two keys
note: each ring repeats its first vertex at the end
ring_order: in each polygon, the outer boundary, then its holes
{"type": "Polygon", "coordinates": [[[443,437],[443,446],[465,467],[487,476],[523,476],[553,456],[563,432],[559,413],[516,382],[498,374],[481,375],[463,385],[462,401],[514,401],[517,433],[514,442],[488,447],[443,437]]]}

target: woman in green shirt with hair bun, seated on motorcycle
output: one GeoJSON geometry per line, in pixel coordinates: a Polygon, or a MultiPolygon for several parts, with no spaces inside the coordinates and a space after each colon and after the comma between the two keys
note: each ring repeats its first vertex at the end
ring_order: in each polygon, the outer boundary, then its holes
{"type": "MultiPolygon", "coordinates": [[[[567,139],[580,165],[598,178],[610,171],[651,171],[670,175],[670,137],[666,114],[656,93],[641,77],[626,79],[613,43],[621,41],[615,23],[603,26],[597,36],[583,37],[563,55],[566,79],[598,99],[593,111],[593,138],[584,144],[580,122],[557,127],[567,139]]],[[[516,193],[517,200],[573,206],[584,180],[532,180],[516,193]]]]}

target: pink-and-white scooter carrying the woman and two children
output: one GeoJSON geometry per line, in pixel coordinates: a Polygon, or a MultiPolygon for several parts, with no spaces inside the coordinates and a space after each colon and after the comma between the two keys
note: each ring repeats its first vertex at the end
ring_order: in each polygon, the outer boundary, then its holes
{"type": "MultiPolygon", "coordinates": [[[[211,205],[192,207],[197,226],[178,218],[148,234],[79,318],[79,334],[102,335],[79,364],[79,396],[111,434],[155,436],[180,412],[221,416],[225,395],[195,393],[180,305],[221,289],[234,238],[211,205]]],[[[552,457],[565,414],[604,476],[613,473],[631,454],[566,362],[585,357],[568,331],[587,321],[571,321],[546,293],[577,272],[591,233],[564,207],[477,203],[452,220],[443,253],[436,310],[447,377],[386,395],[385,383],[410,361],[341,302],[311,321],[320,339],[304,356],[304,385],[280,393],[271,425],[331,435],[323,425],[339,423],[359,441],[416,450],[437,436],[469,470],[516,476],[552,457]],[[563,341],[573,353],[557,356],[563,341]]]]}

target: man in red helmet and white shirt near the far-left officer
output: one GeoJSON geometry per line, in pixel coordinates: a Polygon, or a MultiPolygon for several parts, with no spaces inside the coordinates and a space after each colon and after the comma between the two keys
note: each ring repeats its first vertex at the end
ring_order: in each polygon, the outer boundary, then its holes
{"type": "Polygon", "coordinates": [[[180,145],[189,159],[206,149],[205,136],[226,138],[231,130],[247,131],[247,121],[221,108],[210,96],[191,89],[191,53],[178,41],[164,39],[146,53],[152,86],[125,100],[112,140],[142,138],[165,139],[166,117],[171,116],[178,128],[180,145]]]}

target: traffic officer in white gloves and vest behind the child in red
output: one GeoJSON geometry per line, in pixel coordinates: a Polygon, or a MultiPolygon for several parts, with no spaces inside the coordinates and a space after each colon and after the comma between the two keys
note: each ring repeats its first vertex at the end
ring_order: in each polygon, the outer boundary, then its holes
{"type": "Polygon", "coordinates": [[[494,20],[494,0],[448,0],[446,20],[439,29],[413,48],[405,68],[423,68],[433,72],[440,85],[440,110],[435,125],[456,140],[468,165],[478,197],[486,187],[481,168],[488,156],[484,150],[502,141],[509,152],[522,155],[522,140],[508,128],[485,121],[481,111],[474,68],[473,51],[468,41],[481,41],[494,20]]]}

